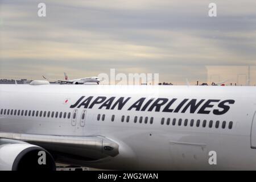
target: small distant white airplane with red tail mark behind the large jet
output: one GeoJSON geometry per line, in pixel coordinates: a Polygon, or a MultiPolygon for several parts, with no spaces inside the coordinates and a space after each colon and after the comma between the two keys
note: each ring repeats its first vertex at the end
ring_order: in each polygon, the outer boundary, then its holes
{"type": "MultiPolygon", "coordinates": [[[[85,84],[87,82],[95,82],[95,83],[99,84],[99,82],[101,81],[100,78],[95,77],[95,76],[79,78],[79,79],[74,79],[74,80],[69,80],[67,73],[64,73],[64,76],[65,76],[65,80],[57,80],[57,81],[60,83],[64,83],[64,84],[76,84],[76,85],[85,84]]],[[[45,76],[43,76],[43,78],[46,80],[53,80],[53,79],[46,78],[45,76]]]]}

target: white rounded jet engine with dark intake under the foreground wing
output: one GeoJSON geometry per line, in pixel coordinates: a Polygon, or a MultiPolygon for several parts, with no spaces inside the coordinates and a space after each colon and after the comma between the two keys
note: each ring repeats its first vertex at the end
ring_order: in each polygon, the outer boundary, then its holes
{"type": "Polygon", "coordinates": [[[0,171],[55,171],[55,161],[44,148],[29,144],[0,145],[0,171]]]}

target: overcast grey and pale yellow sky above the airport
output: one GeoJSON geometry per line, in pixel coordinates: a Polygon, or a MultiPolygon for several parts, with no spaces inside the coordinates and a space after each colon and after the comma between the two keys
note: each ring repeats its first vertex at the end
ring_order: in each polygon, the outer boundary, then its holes
{"type": "Polygon", "coordinates": [[[115,68],[176,84],[207,81],[209,66],[256,65],[255,7],[255,0],[1,0],[0,78],[115,68]],[[38,16],[40,2],[46,17],[38,16]],[[217,17],[208,16],[210,2],[217,17]]]}

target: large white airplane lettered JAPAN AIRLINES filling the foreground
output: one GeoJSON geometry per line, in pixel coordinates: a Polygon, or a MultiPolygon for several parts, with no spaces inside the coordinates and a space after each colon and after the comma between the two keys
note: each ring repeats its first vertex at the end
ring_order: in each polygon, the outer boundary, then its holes
{"type": "Polygon", "coordinates": [[[0,170],[256,169],[255,86],[0,85],[0,170]]]}

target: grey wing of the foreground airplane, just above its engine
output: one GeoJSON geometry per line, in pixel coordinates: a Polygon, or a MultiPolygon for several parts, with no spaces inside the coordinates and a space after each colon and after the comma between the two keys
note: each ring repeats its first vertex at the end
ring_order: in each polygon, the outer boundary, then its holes
{"type": "Polygon", "coordinates": [[[99,135],[76,137],[0,133],[0,138],[35,144],[60,158],[98,160],[119,154],[119,145],[116,142],[99,135]]]}

